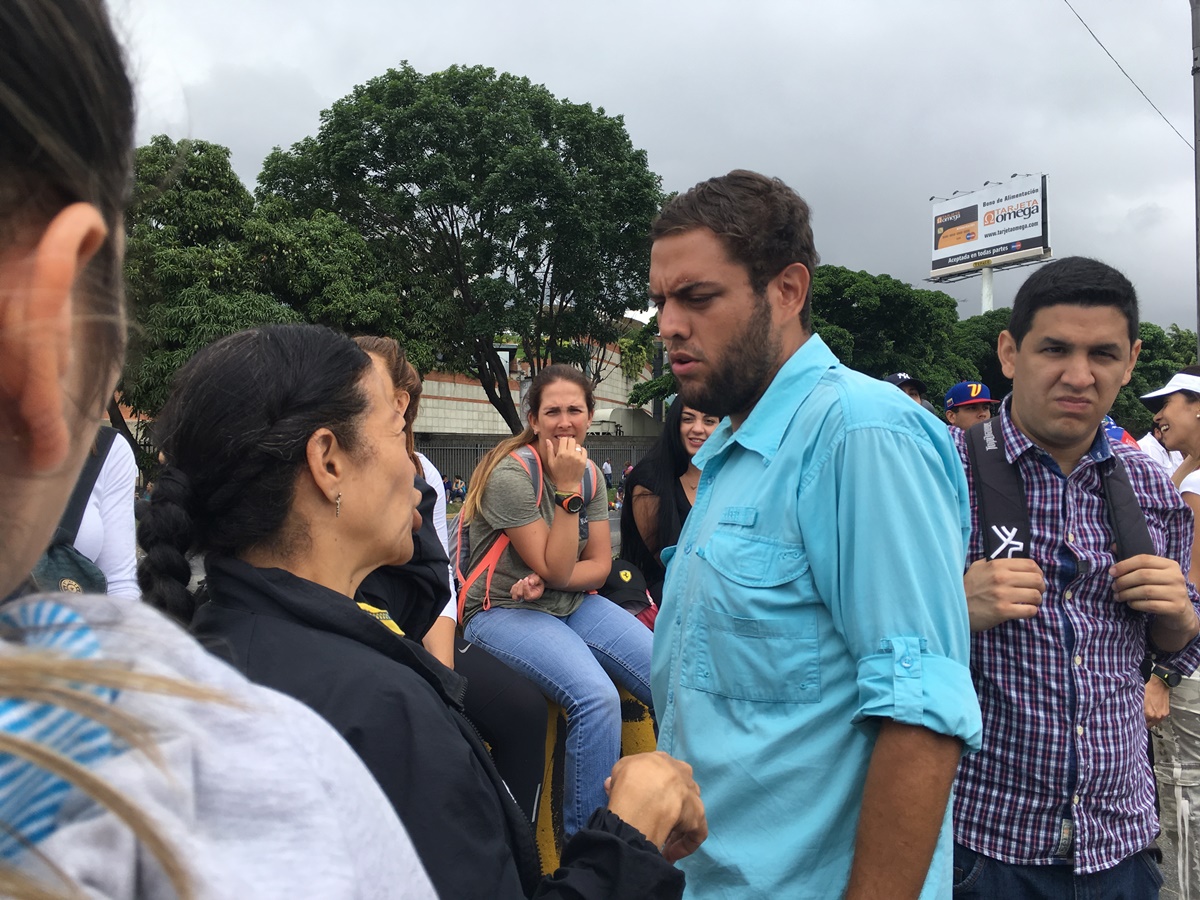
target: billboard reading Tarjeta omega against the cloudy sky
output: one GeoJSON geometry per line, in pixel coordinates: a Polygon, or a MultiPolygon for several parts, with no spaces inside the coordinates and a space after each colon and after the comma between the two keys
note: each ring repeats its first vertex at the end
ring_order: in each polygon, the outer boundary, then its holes
{"type": "Polygon", "coordinates": [[[1025,175],[934,204],[930,278],[1050,256],[1046,176],[1025,175]]]}

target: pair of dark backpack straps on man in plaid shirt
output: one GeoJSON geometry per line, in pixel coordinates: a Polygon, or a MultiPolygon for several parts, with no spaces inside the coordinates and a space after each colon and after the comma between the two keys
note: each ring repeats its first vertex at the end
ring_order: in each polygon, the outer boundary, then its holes
{"type": "MultiPolygon", "coordinates": [[[[988,419],[966,431],[967,460],[974,476],[976,509],[988,559],[1028,559],[1032,529],[1025,503],[1025,482],[1004,456],[1000,420],[988,419]]],[[[1146,514],[1129,482],[1129,473],[1114,454],[1111,472],[1100,472],[1100,486],[1116,536],[1116,559],[1156,553],[1146,514]]]]}

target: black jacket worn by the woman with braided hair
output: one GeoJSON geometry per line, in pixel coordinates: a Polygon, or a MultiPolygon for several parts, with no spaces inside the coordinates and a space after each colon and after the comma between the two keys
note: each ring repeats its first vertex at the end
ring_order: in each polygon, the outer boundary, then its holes
{"type": "Polygon", "coordinates": [[[541,878],[533,830],[462,713],[466,679],[349,598],[235,559],[209,560],[208,596],[193,634],[346,738],[443,900],[683,895],[683,872],[605,810],[568,842],[562,868],[541,878]]]}

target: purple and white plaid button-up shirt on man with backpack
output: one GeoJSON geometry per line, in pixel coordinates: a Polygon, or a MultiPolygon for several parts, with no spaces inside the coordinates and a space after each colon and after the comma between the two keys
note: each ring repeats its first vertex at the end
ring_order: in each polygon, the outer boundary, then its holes
{"type": "MultiPolygon", "coordinates": [[[[983,710],[983,750],[962,760],[954,785],[954,838],[1014,864],[1109,869],[1158,833],[1146,758],[1139,664],[1150,618],[1112,596],[1112,529],[1100,467],[1118,455],[1159,556],[1188,570],[1192,512],[1163,469],[1100,430],[1063,475],[1001,407],[1004,454],[1025,484],[1031,557],[1046,594],[1038,614],[971,636],[971,674],[983,710]]],[[[953,432],[972,490],[967,563],[984,557],[974,482],[962,431],[953,432]]],[[[1200,595],[1188,586],[1193,606],[1200,595]]],[[[1193,641],[1164,664],[1190,672],[1193,641]]]]}

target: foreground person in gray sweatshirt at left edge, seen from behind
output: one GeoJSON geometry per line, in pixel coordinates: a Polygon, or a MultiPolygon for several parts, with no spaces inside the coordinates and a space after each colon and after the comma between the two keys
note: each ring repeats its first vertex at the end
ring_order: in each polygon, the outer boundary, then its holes
{"type": "Polygon", "coordinates": [[[102,0],[0,35],[0,894],[434,896],[306,707],[133,600],[23,595],[124,358],[133,112],[102,0]]]}

